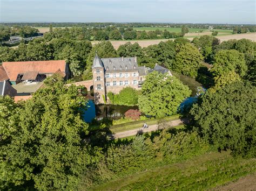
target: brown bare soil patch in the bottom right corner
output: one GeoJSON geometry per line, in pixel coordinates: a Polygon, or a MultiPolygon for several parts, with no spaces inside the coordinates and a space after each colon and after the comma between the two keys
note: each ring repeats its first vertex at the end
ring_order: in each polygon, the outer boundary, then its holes
{"type": "Polygon", "coordinates": [[[215,188],[214,190],[256,190],[256,174],[245,176],[238,181],[230,182],[227,185],[215,188]]]}

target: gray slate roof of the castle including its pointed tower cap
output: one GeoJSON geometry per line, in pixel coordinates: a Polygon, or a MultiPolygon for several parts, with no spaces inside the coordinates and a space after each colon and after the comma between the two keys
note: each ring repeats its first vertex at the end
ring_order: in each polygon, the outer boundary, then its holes
{"type": "Polygon", "coordinates": [[[109,72],[131,72],[138,70],[138,63],[136,57],[127,58],[102,58],[96,54],[92,68],[102,68],[109,72]]]}

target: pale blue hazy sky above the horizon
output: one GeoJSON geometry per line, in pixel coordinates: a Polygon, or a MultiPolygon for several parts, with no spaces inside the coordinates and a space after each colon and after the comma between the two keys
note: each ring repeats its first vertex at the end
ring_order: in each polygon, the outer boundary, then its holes
{"type": "Polygon", "coordinates": [[[0,0],[0,22],[256,24],[255,0],[0,0]]]}

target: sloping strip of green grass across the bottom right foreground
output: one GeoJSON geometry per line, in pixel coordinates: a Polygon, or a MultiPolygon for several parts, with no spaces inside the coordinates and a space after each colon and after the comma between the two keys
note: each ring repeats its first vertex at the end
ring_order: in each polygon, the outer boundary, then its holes
{"type": "Polygon", "coordinates": [[[92,190],[205,190],[256,171],[256,159],[233,158],[230,151],[207,153],[111,181],[92,190]]]}

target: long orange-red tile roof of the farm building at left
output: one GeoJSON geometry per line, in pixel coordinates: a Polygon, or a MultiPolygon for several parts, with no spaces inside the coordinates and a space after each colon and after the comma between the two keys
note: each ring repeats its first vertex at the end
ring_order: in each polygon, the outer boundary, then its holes
{"type": "Polygon", "coordinates": [[[24,61],[24,62],[3,62],[3,68],[10,81],[16,81],[18,74],[25,74],[28,71],[42,73],[55,73],[58,69],[65,73],[65,60],[49,61],[24,61]]]}

